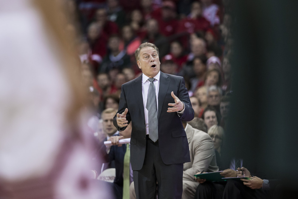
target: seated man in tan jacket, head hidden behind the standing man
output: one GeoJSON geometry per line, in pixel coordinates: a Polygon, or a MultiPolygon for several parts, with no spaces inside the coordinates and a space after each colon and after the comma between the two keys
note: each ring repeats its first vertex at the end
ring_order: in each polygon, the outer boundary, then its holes
{"type": "Polygon", "coordinates": [[[199,185],[197,181],[194,181],[194,175],[198,172],[218,171],[218,166],[210,136],[204,131],[193,128],[185,121],[182,121],[182,124],[190,150],[190,162],[183,164],[182,199],[188,199],[195,196],[195,190],[199,185]]]}

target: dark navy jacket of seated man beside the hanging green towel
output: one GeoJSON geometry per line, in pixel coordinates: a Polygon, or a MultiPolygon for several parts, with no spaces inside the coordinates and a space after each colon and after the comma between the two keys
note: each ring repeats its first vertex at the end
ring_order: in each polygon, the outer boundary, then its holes
{"type": "MultiPolygon", "coordinates": [[[[117,134],[117,136],[119,136],[119,134],[117,134]]],[[[110,161],[115,161],[116,177],[114,179],[114,183],[121,187],[123,187],[123,162],[125,152],[126,144],[122,144],[122,146],[111,146],[111,150],[109,152],[110,161]]]]}

